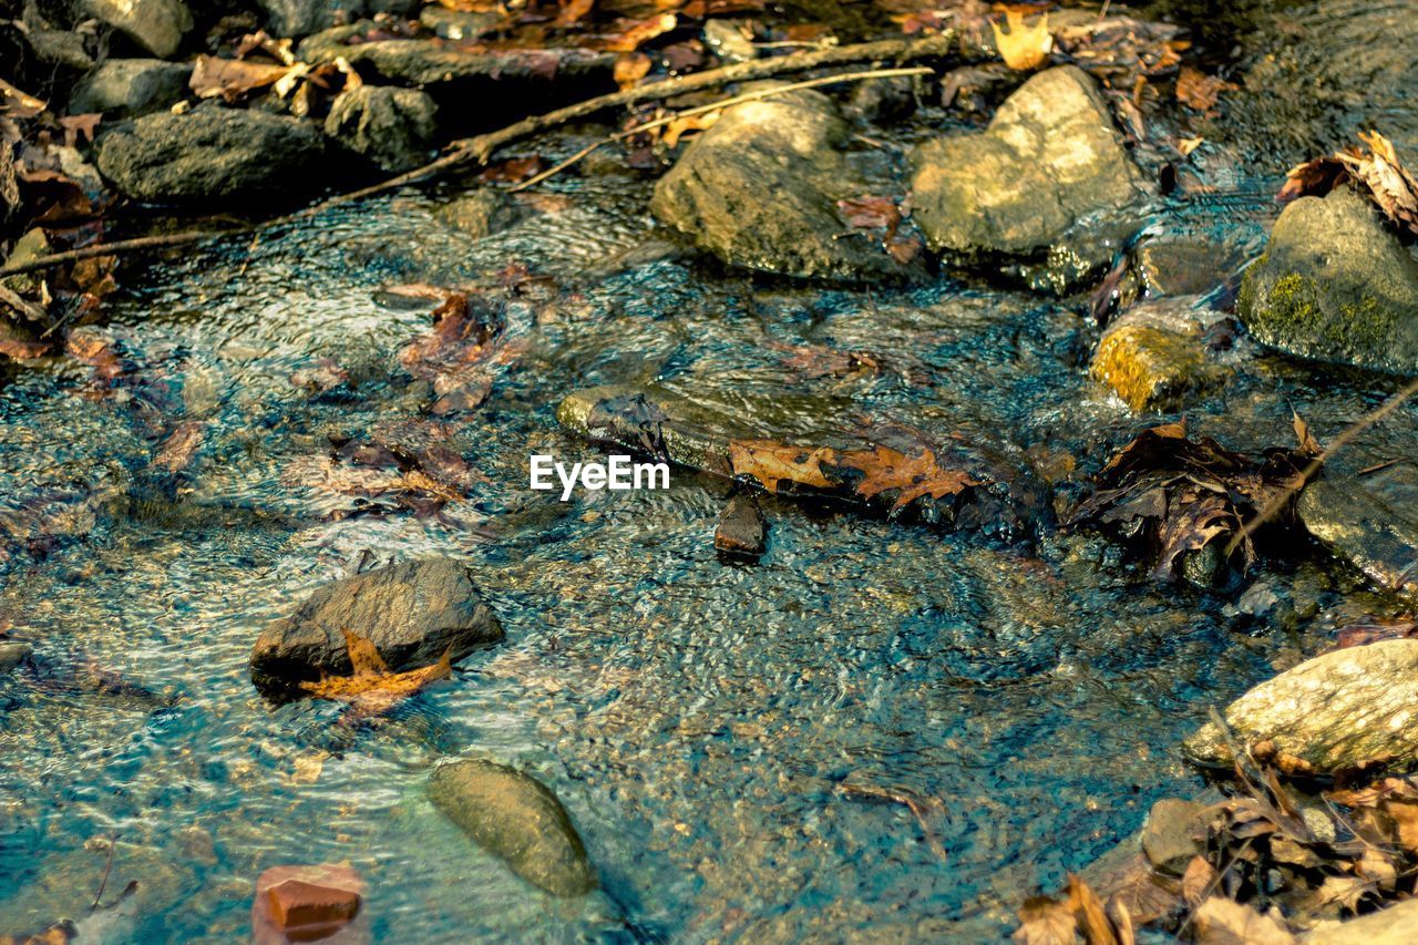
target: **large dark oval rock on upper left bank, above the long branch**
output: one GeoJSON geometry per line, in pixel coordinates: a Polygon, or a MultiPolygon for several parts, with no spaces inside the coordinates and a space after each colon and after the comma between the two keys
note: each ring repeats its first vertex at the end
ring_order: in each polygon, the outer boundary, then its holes
{"type": "Polygon", "coordinates": [[[329,175],[323,155],[325,136],[296,118],[197,108],[105,135],[98,167],[138,200],[230,203],[309,190],[329,175]]]}

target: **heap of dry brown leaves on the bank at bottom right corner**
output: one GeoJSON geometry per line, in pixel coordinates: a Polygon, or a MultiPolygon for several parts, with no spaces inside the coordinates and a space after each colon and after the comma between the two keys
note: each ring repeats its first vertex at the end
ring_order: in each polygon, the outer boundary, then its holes
{"type": "Polygon", "coordinates": [[[1129,945],[1149,929],[1292,945],[1418,894],[1418,778],[1299,785],[1271,761],[1244,755],[1232,797],[1157,802],[1140,843],[1025,901],[1014,941],[1129,945]]]}

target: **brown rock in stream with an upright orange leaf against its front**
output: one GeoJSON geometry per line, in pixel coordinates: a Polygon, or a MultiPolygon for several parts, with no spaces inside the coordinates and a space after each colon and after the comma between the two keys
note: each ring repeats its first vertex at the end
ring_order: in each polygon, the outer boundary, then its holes
{"type": "Polygon", "coordinates": [[[251,651],[251,681],[272,697],[299,694],[301,681],[353,670],[345,633],[369,640],[390,671],[452,661],[502,639],[502,624],[478,596],[468,569],[427,558],[325,585],[277,620],[251,651]]]}

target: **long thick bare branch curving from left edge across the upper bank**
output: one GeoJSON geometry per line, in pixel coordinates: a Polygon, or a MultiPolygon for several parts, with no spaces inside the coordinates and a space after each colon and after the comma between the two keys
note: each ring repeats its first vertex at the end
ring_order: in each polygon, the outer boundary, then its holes
{"type": "Polygon", "coordinates": [[[556,111],[546,112],[543,115],[532,115],[529,118],[523,118],[519,122],[513,122],[506,128],[501,128],[498,131],[488,132],[485,135],[458,139],[451,145],[448,145],[448,153],[442,155],[441,158],[421,167],[414,167],[413,170],[397,175],[394,177],[389,177],[387,180],[381,180],[367,187],[360,187],[359,190],[350,190],[347,193],[336,194],[319,203],[311,204],[303,210],[298,210],[292,214],[268,220],[262,224],[252,224],[250,227],[242,227],[238,230],[227,230],[227,231],[197,230],[189,233],[169,233],[160,237],[119,240],[118,243],[106,243],[102,245],[84,247],[82,250],[68,250],[65,253],[55,253],[52,255],[30,260],[28,262],[0,267],[0,278],[4,278],[7,275],[18,275],[21,272],[34,272],[37,270],[48,268],[55,262],[86,260],[95,255],[106,255],[109,253],[125,253],[128,250],[146,250],[164,245],[182,245],[186,243],[197,243],[199,240],[206,240],[216,236],[245,233],[254,228],[265,228],[272,226],[281,226],[285,223],[292,223],[296,220],[303,220],[325,210],[329,210],[330,207],[360,200],[363,197],[372,197],[374,194],[386,193],[389,190],[396,190],[406,184],[418,183],[420,180],[442,173],[451,167],[457,167],[465,163],[486,163],[488,159],[493,155],[493,152],[515,140],[530,138],[532,135],[549,131],[552,128],[559,128],[579,118],[587,118],[608,108],[617,108],[621,105],[634,105],[637,102],[648,102],[655,99],[675,98],[678,95],[685,95],[688,92],[698,92],[709,88],[718,88],[720,85],[729,85],[730,82],[744,82],[750,79],[770,78],[773,75],[786,75],[788,72],[805,72],[808,70],[821,68],[824,65],[864,62],[871,60],[883,60],[883,61],[895,60],[898,62],[906,62],[910,60],[943,57],[951,52],[953,47],[957,43],[957,38],[959,37],[953,30],[946,30],[936,35],[912,37],[902,40],[876,40],[873,43],[854,43],[851,45],[838,45],[827,50],[808,50],[804,52],[790,52],[788,55],[778,55],[766,60],[733,62],[730,65],[723,65],[716,70],[705,70],[703,72],[693,72],[691,75],[679,75],[658,82],[648,82],[645,85],[637,85],[635,88],[611,92],[608,95],[597,95],[596,98],[588,98],[583,102],[576,102],[574,105],[567,105],[566,108],[559,108],[556,111]]]}

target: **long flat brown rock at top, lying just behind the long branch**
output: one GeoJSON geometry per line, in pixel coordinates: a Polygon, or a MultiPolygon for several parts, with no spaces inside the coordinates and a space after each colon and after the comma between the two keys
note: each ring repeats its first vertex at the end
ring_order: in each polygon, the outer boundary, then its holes
{"type": "MultiPolygon", "coordinates": [[[[308,62],[333,62],[343,57],[369,81],[389,85],[496,88],[503,95],[529,85],[577,87],[583,95],[614,88],[614,52],[587,50],[484,50],[469,51],[444,40],[349,40],[376,27],[372,20],[333,27],[301,43],[299,57],[308,62]]],[[[432,89],[428,89],[432,91],[432,89]]]]}

